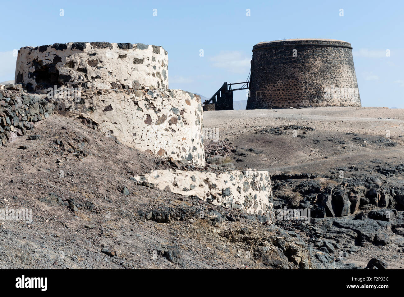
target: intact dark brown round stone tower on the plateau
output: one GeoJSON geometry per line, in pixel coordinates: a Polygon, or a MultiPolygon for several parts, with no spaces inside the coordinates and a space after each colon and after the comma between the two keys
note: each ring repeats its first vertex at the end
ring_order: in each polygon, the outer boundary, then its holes
{"type": "Polygon", "coordinates": [[[351,44],[332,39],[256,44],[247,109],[310,106],[361,106],[351,44]]]}

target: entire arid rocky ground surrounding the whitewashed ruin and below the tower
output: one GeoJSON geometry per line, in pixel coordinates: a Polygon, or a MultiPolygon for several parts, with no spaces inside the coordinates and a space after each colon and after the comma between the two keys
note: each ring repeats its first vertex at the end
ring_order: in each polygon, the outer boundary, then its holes
{"type": "Polygon", "coordinates": [[[219,131],[206,170],[270,171],[275,208],[311,209],[309,222],[141,185],[134,175],[194,166],[53,114],[0,147],[0,208],[32,209],[32,222],[0,221],[0,268],[403,268],[403,110],[214,111],[204,128],[219,131]]]}

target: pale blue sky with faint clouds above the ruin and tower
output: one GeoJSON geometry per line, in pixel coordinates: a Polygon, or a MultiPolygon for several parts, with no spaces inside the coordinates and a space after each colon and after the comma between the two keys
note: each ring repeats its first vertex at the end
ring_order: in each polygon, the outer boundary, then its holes
{"type": "Polygon", "coordinates": [[[142,42],[168,51],[170,88],[211,97],[223,82],[245,81],[258,42],[330,38],[352,44],[363,106],[404,108],[403,11],[402,1],[2,0],[0,82],[14,79],[22,46],[142,42]]]}

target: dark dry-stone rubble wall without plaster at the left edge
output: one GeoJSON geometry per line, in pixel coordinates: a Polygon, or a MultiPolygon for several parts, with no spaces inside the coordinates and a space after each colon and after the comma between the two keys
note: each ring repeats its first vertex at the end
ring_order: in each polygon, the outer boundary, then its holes
{"type": "Polygon", "coordinates": [[[0,85],[0,142],[5,145],[23,136],[34,123],[53,113],[46,96],[29,94],[21,84],[0,85]]]}

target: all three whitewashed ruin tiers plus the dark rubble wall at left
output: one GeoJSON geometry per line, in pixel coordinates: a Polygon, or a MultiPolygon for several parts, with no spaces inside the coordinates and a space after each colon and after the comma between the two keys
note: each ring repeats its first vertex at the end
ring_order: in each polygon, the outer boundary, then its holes
{"type": "MultiPolygon", "coordinates": [[[[3,144],[12,141],[57,112],[85,119],[118,143],[204,166],[200,96],[168,89],[167,63],[164,49],[144,44],[21,48],[16,68],[21,84],[0,87],[0,139],[3,144]]],[[[275,219],[267,171],[160,170],[135,180],[240,209],[262,223],[275,219]]]]}

